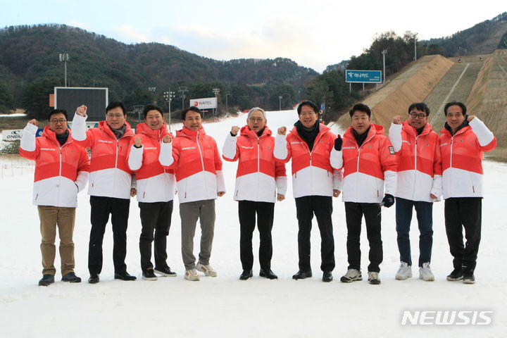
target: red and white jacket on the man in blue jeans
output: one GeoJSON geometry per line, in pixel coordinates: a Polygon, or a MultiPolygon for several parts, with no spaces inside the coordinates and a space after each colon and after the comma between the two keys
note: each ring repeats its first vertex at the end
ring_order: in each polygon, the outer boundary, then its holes
{"type": "Polygon", "coordinates": [[[391,124],[389,141],[397,158],[396,197],[411,201],[432,202],[430,194],[442,195],[442,158],[439,135],[426,123],[417,133],[406,120],[401,125],[391,124]]]}

